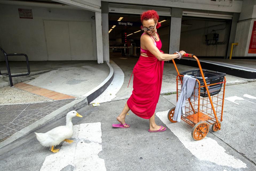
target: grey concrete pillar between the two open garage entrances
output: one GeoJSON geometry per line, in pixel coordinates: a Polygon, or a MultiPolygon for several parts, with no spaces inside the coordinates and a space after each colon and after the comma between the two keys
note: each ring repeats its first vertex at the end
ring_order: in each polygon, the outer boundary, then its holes
{"type": "Polygon", "coordinates": [[[169,54],[180,48],[180,29],[181,29],[182,8],[172,8],[169,54]]]}

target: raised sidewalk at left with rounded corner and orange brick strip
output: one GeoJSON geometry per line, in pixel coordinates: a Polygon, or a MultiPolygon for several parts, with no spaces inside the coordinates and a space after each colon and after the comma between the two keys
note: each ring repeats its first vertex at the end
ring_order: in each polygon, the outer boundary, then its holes
{"type": "MultiPolygon", "coordinates": [[[[22,63],[11,62],[13,75],[26,72],[22,63]]],[[[95,88],[108,86],[111,70],[97,61],[37,61],[30,68],[31,75],[22,78],[27,81],[0,88],[0,148],[87,105],[95,88]]],[[[6,72],[2,62],[0,69],[6,72]]]]}

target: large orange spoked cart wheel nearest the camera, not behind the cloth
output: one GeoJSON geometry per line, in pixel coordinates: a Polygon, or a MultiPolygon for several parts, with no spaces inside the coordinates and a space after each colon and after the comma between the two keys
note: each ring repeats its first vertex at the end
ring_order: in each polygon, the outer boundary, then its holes
{"type": "Polygon", "coordinates": [[[206,135],[209,132],[209,125],[207,122],[198,122],[192,132],[191,135],[194,138],[194,140],[199,141],[201,139],[203,139],[204,137],[206,137],[206,135]]]}

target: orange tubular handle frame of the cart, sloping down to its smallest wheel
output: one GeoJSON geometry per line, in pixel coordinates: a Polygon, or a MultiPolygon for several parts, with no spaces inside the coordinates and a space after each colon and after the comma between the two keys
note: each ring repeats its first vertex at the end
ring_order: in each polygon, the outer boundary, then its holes
{"type": "MultiPolygon", "coordinates": [[[[174,54],[177,54],[177,53],[174,53],[174,54]]],[[[201,67],[201,65],[200,65],[200,62],[199,62],[198,58],[197,58],[194,54],[190,54],[190,53],[185,53],[185,54],[182,55],[182,56],[183,56],[183,57],[189,57],[189,58],[195,58],[195,60],[196,60],[196,62],[197,62],[197,64],[198,64],[199,70],[200,70],[200,72],[201,72],[202,78],[203,78],[204,86],[205,86],[205,88],[206,88],[206,92],[207,92],[207,94],[208,94],[208,97],[209,97],[209,100],[210,100],[210,103],[211,103],[211,106],[212,106],[212,110],[213,110],[213,113],[214,113],[214,116],[215,116],[215,119],[216,119],[216,123],[218,124],[219,121],[218,121],[218,118],[217,118],[217,115],[216,115],[214,106],[213,106],[213,104],[212,104],[212,99],[211,99],[211,96],[210,96],[210,92],[209,92],[209,89],[208,89],[208,85],[207,85],[206,80],[205,80],[205,78],[204,78],[204,73],[203,73],[203,70],[202,70],[202,67],[201,67]]],[[[177,71],[177,73],[178,73],[178,75],[179,75],[180,81],[181,81],[181,83],[182,83],[182,79],[181,79],[181,77],[180,77],[180,73],[179,73],[179,70],[178,70],[178,68],[177,68],[177,66],[176,66],[176,63],[174,62],[174,59],[172,59],[172,62],[173,62],[173,64],[174,64],[174,66],[175,66],[175,69],[176,69],[176,71],[177,71]]],[[[226,79],[226,77],[225,77],[225,79],[226,79]]],[[[226,80],[225,80],[225,81],[226,81],[226,80]]],[[[218,125],[218,127],[219,127],[219,125],[218,125]]],[[[220,128],[220,127],[219,127],[219,128],[220,128]]]]}

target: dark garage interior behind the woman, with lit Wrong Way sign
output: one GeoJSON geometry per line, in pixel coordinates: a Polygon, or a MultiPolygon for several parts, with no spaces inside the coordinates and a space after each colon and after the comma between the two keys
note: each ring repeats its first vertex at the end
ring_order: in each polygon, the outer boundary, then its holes
{"type": "MultiPolygon", "coordinates": [[[[161,27],[157,29],[162,41],[162,50],[169,51],[170,17],[159,16],[161,27]]],[[[109,14],[110,57],[140,56],[141,21],[140,15],[109,14]],[[125,25],[126,24],[126,25],[125,25]]]]}

